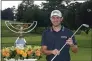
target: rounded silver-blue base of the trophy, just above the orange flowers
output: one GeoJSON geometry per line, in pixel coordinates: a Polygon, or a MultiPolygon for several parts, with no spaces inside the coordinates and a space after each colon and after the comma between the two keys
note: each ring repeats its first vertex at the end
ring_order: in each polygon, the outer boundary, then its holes
{"type": "Polygon", "coordinates": [[[23,36],[19,36],[15,41],[15,46],[19,49],[24,49],[25,45],[26,45],[26,40],[23,38],[23,36]]]}

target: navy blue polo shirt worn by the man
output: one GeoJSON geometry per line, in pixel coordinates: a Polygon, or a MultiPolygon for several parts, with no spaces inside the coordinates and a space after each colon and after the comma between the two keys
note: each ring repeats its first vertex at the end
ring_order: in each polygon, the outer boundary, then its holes
{"type": "MultiPolygon", "coordinates": [[[[64,26],[62,26],[61,30],[58,32],[55,32],[53,29],[49,28],[43,32],[41,45],[47,46],[48,50],[60,50],[60,48],[65,44],[66,40],[71,37],[72,34],[73,32],[64,26]]],[[[75,38],[73,37],[72,39],[73,43],[76,45],[77,43],[75,38]]],[[[54,61],[70,61],[69,49],[70,46],[66,45],[60,54],[54,59],[54,61]]],[[[53,54],[47,55],[47,61],[51,61],[53,56],[53,54]]]]}

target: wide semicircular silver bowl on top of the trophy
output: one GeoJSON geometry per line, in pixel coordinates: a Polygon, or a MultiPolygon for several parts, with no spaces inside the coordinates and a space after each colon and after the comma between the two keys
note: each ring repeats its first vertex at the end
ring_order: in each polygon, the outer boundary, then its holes
{"type": "Polygon", "coordinates": [[[5,24],[9,30],[20,34],[31,32],[37,26],[37,21],[33,21],[33,23],[15,23],[5,21],[5,24]]]}

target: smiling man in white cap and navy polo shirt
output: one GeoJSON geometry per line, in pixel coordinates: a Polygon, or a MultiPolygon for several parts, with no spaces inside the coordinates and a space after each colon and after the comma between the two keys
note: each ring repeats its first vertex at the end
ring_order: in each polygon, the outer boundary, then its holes
{"type": "Polygon", "coordinates": [[[74,53],[78,50],[75,38],[69,38],[73,32],[61,26],[63,17],[59,10],[53,10],[51,12],[50,20],[52,27],[43,32],[41,50],[46,55],[47,61],[51,61],[56,54],[58,54],[58,56],[53,61],[70,61],[69,49],[71,48],[74,53]],[[60,48],[65,43],[67,43],[67,45],[59,53],[60,48]]]}

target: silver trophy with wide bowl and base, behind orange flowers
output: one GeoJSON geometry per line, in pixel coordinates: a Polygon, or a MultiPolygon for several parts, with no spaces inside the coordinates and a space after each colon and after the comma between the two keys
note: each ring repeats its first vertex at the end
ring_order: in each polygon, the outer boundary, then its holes
{"type": "Polygon", "coordinates": [[[9,30],[19,34],[18,38],[15,41],[15,46],[19,49],[24,49],[26,40],[23,37],[23,34],[31,32],[37,26],[37,21],[33,21],[33,23],[17,23],[5,21],[5,24],[9,30]]]}

